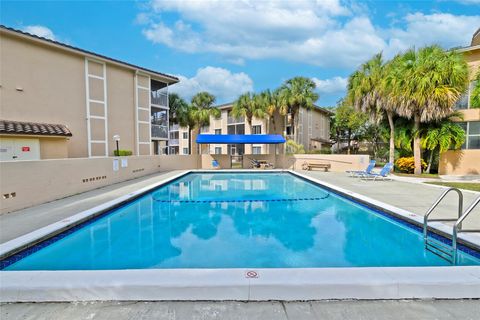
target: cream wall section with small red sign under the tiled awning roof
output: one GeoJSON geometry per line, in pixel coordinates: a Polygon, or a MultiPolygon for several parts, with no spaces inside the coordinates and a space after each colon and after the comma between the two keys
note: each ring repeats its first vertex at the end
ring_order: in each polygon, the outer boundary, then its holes
{"type": "Polygon", "coordinates": [[[0,161],[12,160],[40,160],[40,141],[0,138],[0,161]]]}

